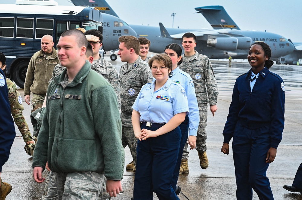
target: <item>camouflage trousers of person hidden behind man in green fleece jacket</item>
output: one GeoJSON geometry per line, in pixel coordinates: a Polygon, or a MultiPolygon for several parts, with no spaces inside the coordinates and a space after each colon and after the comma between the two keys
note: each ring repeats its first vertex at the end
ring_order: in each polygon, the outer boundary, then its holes
{"type": "MultiPolygon", "coordinates": [[[[98,174],[98,173],[97,173],[98,174]]],[[[101,174],[103,175],[103,174],[101,174]]],[[[106,192],[106,177],[103,175],[103,185],[101,186],[101,192],[98,196],[98,200],[108,200],[110,197],[109,194],[106,192]]],[[[47,172],[47,177],[45,181],[44,192],[41,197],[41,200],[48,200],[48,199],[58,199],[58,188],[56,182],[56,173],[52,171],[47,172]]]]}

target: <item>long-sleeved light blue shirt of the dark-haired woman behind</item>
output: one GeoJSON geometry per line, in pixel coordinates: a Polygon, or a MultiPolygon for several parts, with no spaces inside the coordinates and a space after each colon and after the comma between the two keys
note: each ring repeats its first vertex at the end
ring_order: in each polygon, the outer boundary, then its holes
{"type": "Polygon", "coordinates": [[[179,69],[179,67],[171,72],[170,79],[172,82],[179,83],[185,88],[189,105],[189,136],[197,136],[197,129],[199,125],[199,109],[193,80],[190,75],[179,69]]]}

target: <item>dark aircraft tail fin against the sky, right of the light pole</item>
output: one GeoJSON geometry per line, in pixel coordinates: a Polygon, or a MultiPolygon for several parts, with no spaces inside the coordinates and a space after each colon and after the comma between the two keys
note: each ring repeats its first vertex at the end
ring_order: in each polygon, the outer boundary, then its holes
{"type": "Polygon", "coordinates": [[[223,6],[203,6],[195,8],[195,10],[206,18],[213,29],[233,28],[240,30],[223,6]]]}

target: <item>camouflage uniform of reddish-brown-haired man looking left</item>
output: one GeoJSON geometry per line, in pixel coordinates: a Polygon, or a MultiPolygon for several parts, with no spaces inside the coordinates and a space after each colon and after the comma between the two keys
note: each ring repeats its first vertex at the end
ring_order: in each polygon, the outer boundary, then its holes
{"type": "Polygon", "coordinates": [[[131,122],[132,108],[143,85],[152,82],[153,76],[149,65],[140,56],[132,66],[125,63],[120,68],[120,99],[122,120],[122,144],[130,149],[134,165],[136,165],[137,139],[131,122]]]}

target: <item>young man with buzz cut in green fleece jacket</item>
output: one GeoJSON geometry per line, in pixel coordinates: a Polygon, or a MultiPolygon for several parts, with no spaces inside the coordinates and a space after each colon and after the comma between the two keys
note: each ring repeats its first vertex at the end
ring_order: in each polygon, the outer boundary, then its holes
{"type": "Polygon", "coordinates": [[[66,67],[47,90],[33,176],[37,183],[49,167],[56,174],[59,199],[97,199],[104,176],[107,192],[122,191],[124,148],[117,97],[112,85],[85,60],[87,40],[76,29],[65,31],[57,44],[66,67]]]}

